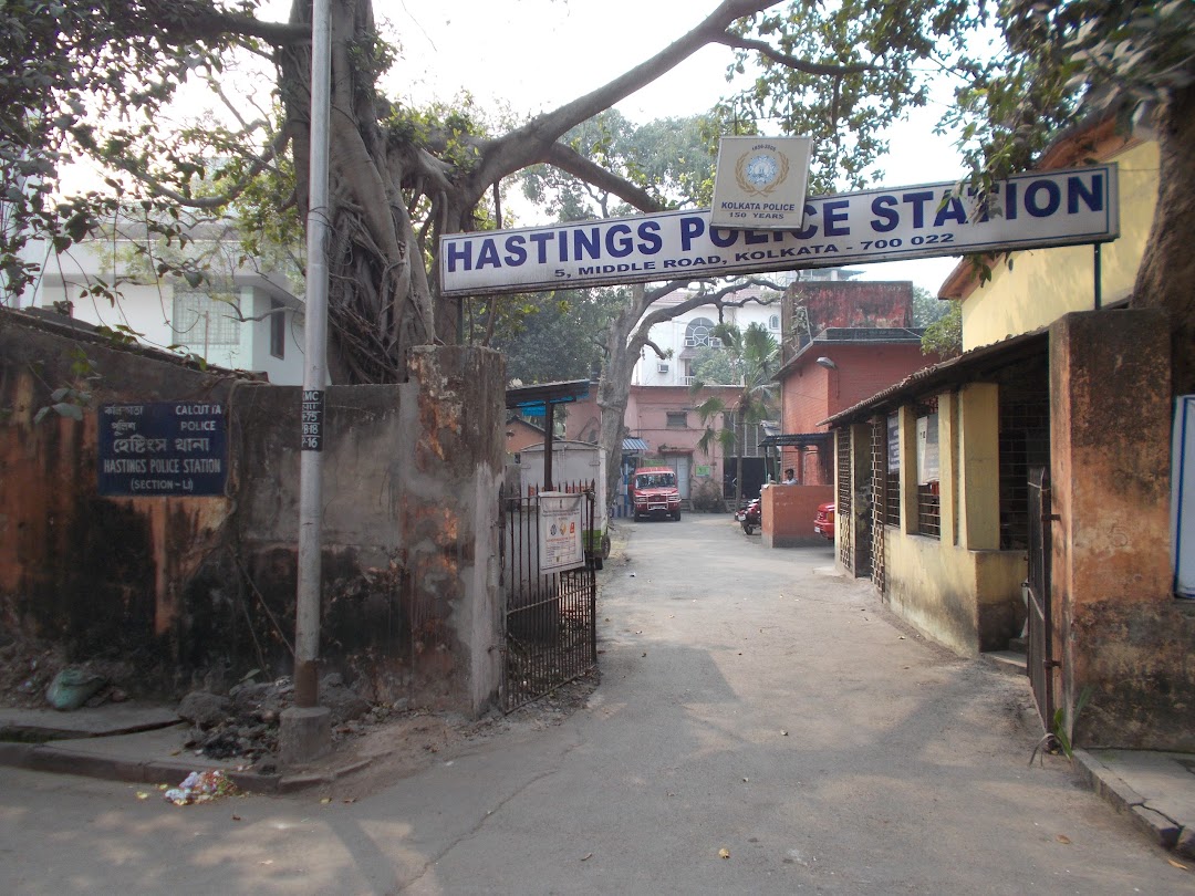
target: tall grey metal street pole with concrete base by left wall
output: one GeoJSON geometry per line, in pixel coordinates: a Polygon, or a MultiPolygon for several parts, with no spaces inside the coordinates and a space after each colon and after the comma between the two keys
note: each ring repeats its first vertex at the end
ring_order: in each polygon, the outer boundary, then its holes
{"type": "Polygon", "coordinates": [[[295,706],[278,730],[283,763],[301,763],[331,747],[329,711],[319,707],[319,618],[323,551],[323,426],[327,382],[327,143],[331,97],[330,0],[313,0],[311,167],[307,207],[306,360],[299,461],[299,575],[295,603],[295,706]]]}

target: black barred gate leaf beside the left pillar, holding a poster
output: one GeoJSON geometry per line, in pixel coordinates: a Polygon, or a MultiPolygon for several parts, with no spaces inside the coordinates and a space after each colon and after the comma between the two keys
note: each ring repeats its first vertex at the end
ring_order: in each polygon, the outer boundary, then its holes
{"type": "MultiPolygon", "coordinates": [[[[564,486],[580,493],[582,527],[594,528],[594,484],[564,486]]],[[[598,663],[598,577],[595,558],[583,565],[543,572],[539,496],[502,503],[503,613],[502,710],[551,693],[598,663]]]]}

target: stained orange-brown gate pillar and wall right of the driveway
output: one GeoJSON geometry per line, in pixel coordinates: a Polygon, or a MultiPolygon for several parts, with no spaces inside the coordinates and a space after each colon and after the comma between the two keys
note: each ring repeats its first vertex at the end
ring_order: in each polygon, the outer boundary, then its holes
{"type": "Polygon", "coordinates": [[[1077,743],[1195,750],[1195,608],[1171,594],[1169,373],[1160,312],[1050,329],[1055,693],[1077,743]]]}

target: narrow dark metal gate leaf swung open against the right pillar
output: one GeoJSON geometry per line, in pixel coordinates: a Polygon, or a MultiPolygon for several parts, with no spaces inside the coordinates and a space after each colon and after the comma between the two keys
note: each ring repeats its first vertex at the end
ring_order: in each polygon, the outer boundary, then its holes
{"type": "Polygon", "coordinates": [[[1029,682],[1046,730],[1054,725],[1054,631],[1050,619],[1050,502],[1049,473],[1044,467],[1029,471],[1029,644],[1025,665],[1029,682]]]}

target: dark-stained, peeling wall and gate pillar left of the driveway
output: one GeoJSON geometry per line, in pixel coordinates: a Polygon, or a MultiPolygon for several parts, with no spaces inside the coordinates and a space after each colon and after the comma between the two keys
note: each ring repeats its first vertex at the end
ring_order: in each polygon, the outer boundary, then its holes
{"type": "MultiPolygon", "coordinates": [[[[2,624],[73,659],[131,662],[133,691],[289,674],[300,389],[79,346],[22,318],[0,315],[2,624]],[[32,423],[76,348],[100,374],[96,404],[223,404],[227,496],[99,497],[96,411],[32,423]]],[[[435,348],[405,385],[327,391],[321,659],[370,696],[479,711],[496,693],[503,380],[496,352],[435,348]]]]}

